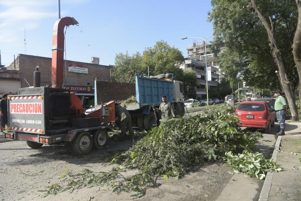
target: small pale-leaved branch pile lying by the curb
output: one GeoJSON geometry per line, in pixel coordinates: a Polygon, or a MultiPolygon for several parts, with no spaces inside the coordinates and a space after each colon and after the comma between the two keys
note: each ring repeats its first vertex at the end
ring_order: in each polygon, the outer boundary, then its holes
{"type": "Polygon", "coordinates": [[[265,159],[262,153],[243,152],[242,154],[233,155],[232,152],[225,153],[227,163],[224,166],[233,168],[235,173],[245,173],[250,177],[264,179],[267,172],[284,171],[284,168],[277,167],[273,159],[265,159]]]}

